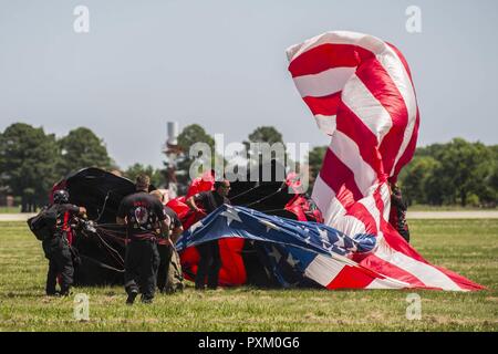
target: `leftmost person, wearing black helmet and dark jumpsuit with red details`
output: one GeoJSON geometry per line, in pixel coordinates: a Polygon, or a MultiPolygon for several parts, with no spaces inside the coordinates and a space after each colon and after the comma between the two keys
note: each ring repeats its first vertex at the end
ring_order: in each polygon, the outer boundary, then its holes
{"type": "Polygon", "coordinates": [[[56,215],[55,223],[50,227],[52,236],[45,238],[42,242],[43,251],[49,259],[45,285],[45,292],[49,296],[58,294],[68,296],[73,284],[74,264],[68,232],[71,231],[71,219],[77,215],[86,214],[86,209],[69,204],[69,198],[70,195],[66,190],[56,190],[53,194],[54,204],[49,208],[49,211],[56,215]],[[60,292],[55,290],[58,275],[61,277],[60,292]]]}

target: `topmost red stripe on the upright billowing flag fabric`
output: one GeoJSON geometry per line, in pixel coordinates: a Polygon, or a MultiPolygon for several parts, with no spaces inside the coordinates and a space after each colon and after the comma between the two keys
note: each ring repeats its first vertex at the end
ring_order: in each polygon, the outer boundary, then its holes
{"type": "Polygon", "coordinates": [[[333,67],[355,67],[372,52],[351,44],[321,44],[294,58],[289,64],[292,77],[312,75],[333,67]]]}

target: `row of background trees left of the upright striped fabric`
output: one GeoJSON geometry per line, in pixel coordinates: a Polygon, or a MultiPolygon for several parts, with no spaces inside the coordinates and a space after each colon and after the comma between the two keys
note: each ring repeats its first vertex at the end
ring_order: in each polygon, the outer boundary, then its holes
{"type": "MultiPolygon", "coordinates": [[[[283,143],[282,135],[273,127],[259,127],[249,134],[248,139],[283,143]]],[[[175,166],[167,160],[163,168],[136,163],[121,170],[108,155],[104,140],[90,128],[77,127],[58,138],[54,134],[46,134],[43,127],[14,123],[0,132],[0,194],[15,196],[22,212],[35,211],[48,202],[49,191],[55,183],[85,167],[115,171],[131,180],[145,173],[156,187],[175,181],[183,192],[190,181],[188,171],[194,160],[188,152],[198,142],[208,144],[214,152],[214,137],[198,124],[188,125],[178,136],[181,153],[176,157],[175,166]],[[173,167],[176,178],[170,175],[173,167]]]]}

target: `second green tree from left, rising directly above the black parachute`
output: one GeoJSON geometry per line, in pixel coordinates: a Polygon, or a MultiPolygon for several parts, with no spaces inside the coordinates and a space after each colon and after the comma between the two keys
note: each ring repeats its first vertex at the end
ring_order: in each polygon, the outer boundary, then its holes
{"type": "Polygon", "coordinates": [[[91,129],[79,127],[59,140],[62,153],[60,173],[66,175],[85,167],[114,168],[104,142],[91,129]]]}

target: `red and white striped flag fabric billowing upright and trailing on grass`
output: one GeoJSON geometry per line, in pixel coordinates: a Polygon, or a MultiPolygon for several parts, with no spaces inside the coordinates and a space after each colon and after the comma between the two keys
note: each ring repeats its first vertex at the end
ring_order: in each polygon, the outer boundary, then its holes
{"type": "Polygon", "coordinates": [[[402,53],[372,35],[334,31],[287,50],[289,71],[331,136],[312,198],[324,222],[377,247],[353,260],[318,257],[308,275],[329,289],[483,289],[424,260],[388,223],[388,181],[413,157],[418,107],[402,53]]]}

